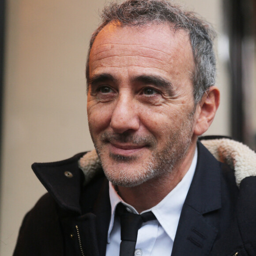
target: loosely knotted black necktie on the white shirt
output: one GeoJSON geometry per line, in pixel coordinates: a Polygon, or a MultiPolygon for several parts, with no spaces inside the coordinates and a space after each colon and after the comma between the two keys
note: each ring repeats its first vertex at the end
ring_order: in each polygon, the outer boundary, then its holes
{"type": "Polygon", "coordinates": [[[117,205],[116,214],[120,217],[121,226],[119,256],[134,256],[138,230],[142,223],[156,218],[151,211],[143,214],[128,212],[122,203],[117,205]]]}

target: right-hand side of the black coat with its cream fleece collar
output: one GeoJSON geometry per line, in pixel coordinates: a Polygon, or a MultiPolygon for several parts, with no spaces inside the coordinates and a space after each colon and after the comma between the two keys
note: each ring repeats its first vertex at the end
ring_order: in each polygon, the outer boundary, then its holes
{"type": "Polygon", "coordinates": [[[234,211],[229,227],[216,241],[211,255],[255,255],[256,153],[227,137],[207,136],[200,140],[221,162],[222,189],[226,191],[222,193],[222,206],[233,201],[230,208],[234,211]]]}

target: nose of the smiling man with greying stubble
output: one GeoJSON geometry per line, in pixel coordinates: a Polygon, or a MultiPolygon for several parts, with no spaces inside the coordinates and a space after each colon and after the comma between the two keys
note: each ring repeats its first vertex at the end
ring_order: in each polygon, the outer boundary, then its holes
{"type": "Polygon", "coordinates": [[[136,111],[136,104],[131,97],[126,95],[119,96],[113,109],[110,127],[117,133],[139,129],[139,116],[136,111]]]}

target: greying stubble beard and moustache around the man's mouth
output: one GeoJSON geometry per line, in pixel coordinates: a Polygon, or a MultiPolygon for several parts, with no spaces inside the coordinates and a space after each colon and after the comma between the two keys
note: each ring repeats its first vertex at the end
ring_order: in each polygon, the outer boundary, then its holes
{"type": "Polygon", "coordinates": [[[186,156],[191,146],[192,126],[194,112],[189,113],[180,128],[175,132],[171,132],[166,137],[166,145],[161,151],[156,150],[157,142],[154,136],[135,136],[131,133],[114,134],[104,132],[100,136],[100,142],[96,142],[93,138],[94,147],[98,157],[102,163],[105,176],[112,184],[121,187],[135,187],[152,179],[161,177],[164,180],[166,176],[173,173],[173,170],[186,156]],[[151,159],[147,159],[140,163],[140,168],[130,170],[129,164],[139,161],[136,156],[123,156],[117,154],[108,154],[105,152],[105,144],[109,141],[129,142],[133,144],[147,143],[151,149],[151,159]],[[105,157],[111,158],[116,163],[124,163],[126,168],[120,169],[120,166],[109,164],[105,161],[105,157]]]}

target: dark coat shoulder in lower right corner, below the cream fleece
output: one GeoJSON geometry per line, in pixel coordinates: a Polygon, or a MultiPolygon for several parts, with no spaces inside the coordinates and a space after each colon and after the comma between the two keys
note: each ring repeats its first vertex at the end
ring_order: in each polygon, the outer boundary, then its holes
{"type": "Polygon", "coordinates": [[[256,255],[256,177],[241,181],[235,215],[211,255],[256,255]],[[237,253],[237,254],[236,254],[237,253]]]}

